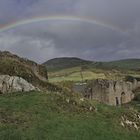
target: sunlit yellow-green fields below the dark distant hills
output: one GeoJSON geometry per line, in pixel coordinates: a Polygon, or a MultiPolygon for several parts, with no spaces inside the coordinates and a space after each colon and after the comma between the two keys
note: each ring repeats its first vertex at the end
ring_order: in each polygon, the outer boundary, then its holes
{"type": "Polygon", "coordinates": [[[102,69],[85,69],[81,70],[81,67],[67,68],[59,70],[57,72],[48,72],[50,82],[62,82],[62,81],[82,81],[92,79],[112,79],[119,80],[125,78],[125,76],[131,75],[140,77],[139,71],[118,71],[118,70],[102,70],[102,69]]]}

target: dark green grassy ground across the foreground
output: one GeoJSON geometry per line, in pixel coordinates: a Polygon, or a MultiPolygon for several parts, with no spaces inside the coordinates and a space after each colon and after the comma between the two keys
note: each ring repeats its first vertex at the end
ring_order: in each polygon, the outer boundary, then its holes
{"type": "Polygon", "coordinates": [[[37,92],[0,96],[0,140],[139,140],[140,131],[120,125],[121,116],[136,108],[80,98],[37,92]]]}

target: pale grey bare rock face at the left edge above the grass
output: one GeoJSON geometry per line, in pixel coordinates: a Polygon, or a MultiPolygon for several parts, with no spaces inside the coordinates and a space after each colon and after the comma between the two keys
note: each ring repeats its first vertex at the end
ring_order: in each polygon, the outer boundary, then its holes
{"type": "Polygon", "coordinates": [[[39,90],[23,78],[17,76],[0,75],[0,93],[27,92],[39,90]]]}

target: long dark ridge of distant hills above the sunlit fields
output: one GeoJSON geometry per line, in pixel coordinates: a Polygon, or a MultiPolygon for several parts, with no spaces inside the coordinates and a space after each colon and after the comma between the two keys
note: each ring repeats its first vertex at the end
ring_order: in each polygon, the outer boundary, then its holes
{"type": "Polygon", "coordinates": [[[57,71],[72,67],[87,67],[98,69],[117,69],[117,70],[140,70],[140,59],[124,59],[110,62],[92,62],[75,57],[62,57],[48,60],[43,63],[48,71],[57,71]]]}

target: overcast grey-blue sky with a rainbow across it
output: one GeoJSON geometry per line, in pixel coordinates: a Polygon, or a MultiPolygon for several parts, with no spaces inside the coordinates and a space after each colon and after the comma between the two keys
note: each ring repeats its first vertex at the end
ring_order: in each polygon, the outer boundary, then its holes
{"type": "Polygon", "coordinates": [[[140,0],[0,0],[0,50],[38,63],[140,58],[140,0]]]}

